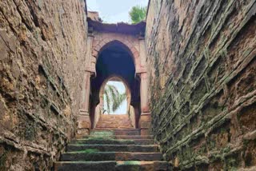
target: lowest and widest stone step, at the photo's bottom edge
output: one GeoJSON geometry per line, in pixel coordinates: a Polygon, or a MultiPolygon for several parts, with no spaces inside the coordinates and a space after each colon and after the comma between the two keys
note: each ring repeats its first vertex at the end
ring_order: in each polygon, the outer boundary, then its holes
{"type": "Polygon", "coordinates": [[[167,171],[170,164],[166,161],[58,161],[55,171],[167,171]]]}

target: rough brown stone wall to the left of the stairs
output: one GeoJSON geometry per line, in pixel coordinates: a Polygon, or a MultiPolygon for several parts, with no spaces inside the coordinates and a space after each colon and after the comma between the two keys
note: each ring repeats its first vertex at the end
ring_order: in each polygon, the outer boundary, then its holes
{"type": "Polygon", "coordinates": [[[0,170],[50,170],[74,135],[86,32],[82,0],[0,1],[0,170]]]}

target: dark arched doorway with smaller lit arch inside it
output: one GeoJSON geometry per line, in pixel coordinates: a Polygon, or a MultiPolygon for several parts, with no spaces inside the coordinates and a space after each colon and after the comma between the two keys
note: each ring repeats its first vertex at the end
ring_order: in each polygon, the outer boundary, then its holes
{"type": "Polygon", "coordinates": [[[140,113],[140,81],[135,75],[134,57],[122,42],[113,41],[102,47],[96,62],[96,77],[91,79],[90,118],[92,128],[104,113],[103,94],[109,81],[126,86],[127,111],[135,128],[140,113]]]}

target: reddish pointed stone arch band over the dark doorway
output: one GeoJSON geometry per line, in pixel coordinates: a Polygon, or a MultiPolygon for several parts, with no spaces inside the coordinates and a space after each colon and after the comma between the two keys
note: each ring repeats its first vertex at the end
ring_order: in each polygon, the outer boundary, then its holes
{"type": "Polygon", "coordinates": [[[120,42],[123,46],[126,46],[127,50],[130,51],[132,58],[134,59],[134,65],[140,66],[139,52],[134,47],[133,43],[126,38],[104,38],[103,40],[97,40],[94,38],[92,56],[98,59],[98,55],[104,50],[104,48],[110,45],[111,42],[120,42]]]}

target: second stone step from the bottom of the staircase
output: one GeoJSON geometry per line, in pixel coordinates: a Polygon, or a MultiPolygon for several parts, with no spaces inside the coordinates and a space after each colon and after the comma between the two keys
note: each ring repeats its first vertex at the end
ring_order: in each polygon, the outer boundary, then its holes
{"type": "Polygon", "coordinates": [[[70,152],[61,161],[162,161],[162,153],[70,152]]]}

